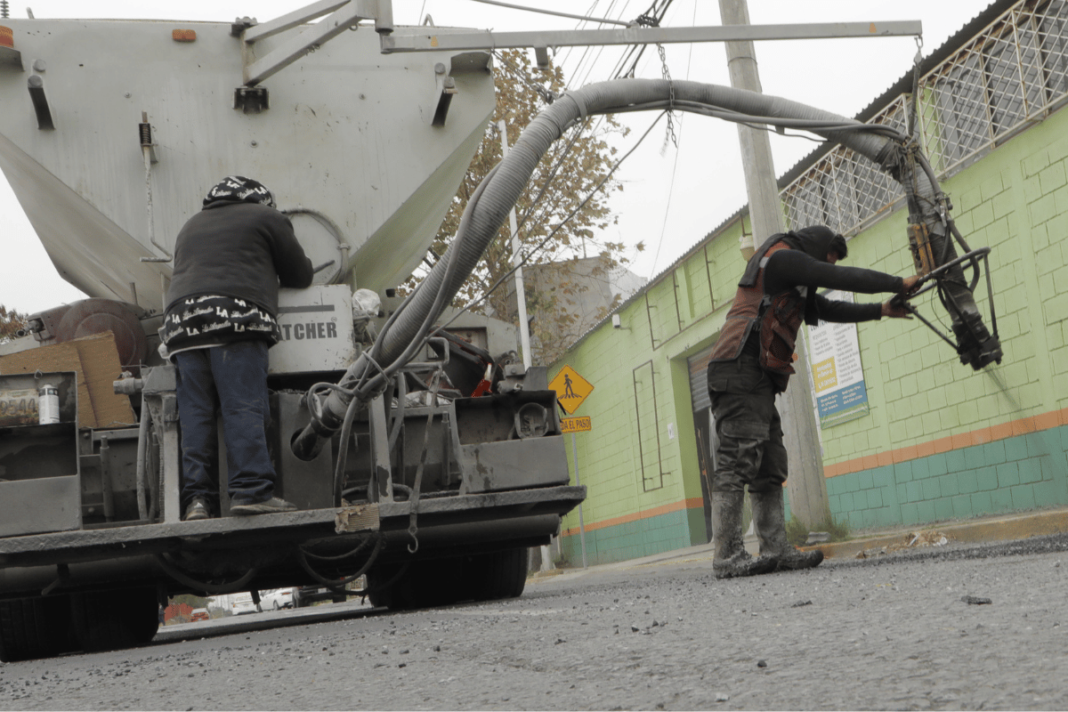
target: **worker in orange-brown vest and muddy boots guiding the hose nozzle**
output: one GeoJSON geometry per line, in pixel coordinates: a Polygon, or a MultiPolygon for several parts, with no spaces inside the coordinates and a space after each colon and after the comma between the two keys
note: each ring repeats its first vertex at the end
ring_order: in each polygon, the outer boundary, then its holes
{"type": "Polygon", "coordinates": [[[863,294],[908,292],[918,278],[835,265],[846,240],[816,225],[776,234],[750,258],[738,283],[720,338],[708,364],[708,392],[719,445],[712,474],[718,579],[807,569],[823,560],[820,551],[801,552],[786,540],[783,485],[786,448],[775,395],[786,390],[802,321],[869,321],[908,313],[890,301],[853,304],[832,301],[818,288],[863,294]],[[741,509],[749,488],[760,556],[742,545],[741,509]]]}

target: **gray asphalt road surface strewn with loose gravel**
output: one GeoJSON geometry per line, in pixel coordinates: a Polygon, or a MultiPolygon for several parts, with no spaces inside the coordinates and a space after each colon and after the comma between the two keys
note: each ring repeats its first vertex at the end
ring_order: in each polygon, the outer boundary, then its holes
{"type": "Polygon", "coordinates": [[[0,709],[1065,710],[1066,603],[1065,535],[728,581],[598,567],[489,604],[268,612],[0,664],[0,709]]]}

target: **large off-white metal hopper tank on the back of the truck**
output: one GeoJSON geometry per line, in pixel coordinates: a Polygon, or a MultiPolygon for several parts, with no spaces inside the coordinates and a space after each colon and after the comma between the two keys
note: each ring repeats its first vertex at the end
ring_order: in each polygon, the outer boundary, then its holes
{"type": "Polygon", "coordinates": [[[303,29],[246,47],[230,22],[0,19],[0,170],[68,282],[158,308],[170,265],[142,258],[230,174],[334,260],[318,283],[380,292],[414,269],[492,112],[489,56],[381,54],[361,27],[267,78],[268,108],[235,108],[246,63],[303,29]]]}

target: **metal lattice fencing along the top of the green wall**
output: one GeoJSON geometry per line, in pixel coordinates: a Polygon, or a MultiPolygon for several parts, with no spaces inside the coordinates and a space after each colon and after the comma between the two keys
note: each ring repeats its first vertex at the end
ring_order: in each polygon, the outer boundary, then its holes
{"type": "MultiPolygon", "coordinates": [[[[920,142],[940,177],[1040,120],[1068,94],[1068,0],[1020,0],[921,78],[920,142]]],[[[911,97],[870,123],[906,130],[911,97]]],[[[838,146],[780,193],[787,227],[855,235],[902,196],[863,156],[838,146]]]]}

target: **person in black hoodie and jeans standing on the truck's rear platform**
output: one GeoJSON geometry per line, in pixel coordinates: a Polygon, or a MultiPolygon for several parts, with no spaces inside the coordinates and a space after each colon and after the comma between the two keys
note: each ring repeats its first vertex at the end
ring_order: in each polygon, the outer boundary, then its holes
{"type": "Polygon", "coordinates": [[[250,178],[233,175],[211,188],[178,233],[159,334],[176,366],[186,521],[219,511],[216,409],[231,513],[296,509],[274,496],[267,349],[281,337],[279,287],[311,284],[312,263],[293,224],[274,208],[271,192],[250,178]]]}

